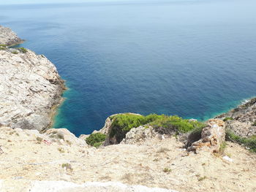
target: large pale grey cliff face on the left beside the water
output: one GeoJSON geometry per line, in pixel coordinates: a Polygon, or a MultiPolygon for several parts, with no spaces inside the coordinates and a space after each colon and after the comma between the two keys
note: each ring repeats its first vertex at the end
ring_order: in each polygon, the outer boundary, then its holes
{"type": "Polygon", "coordinates": [[[61,102],[64,81],[44,55],[0,50],[0,126],[48,128],[61,102]]]}

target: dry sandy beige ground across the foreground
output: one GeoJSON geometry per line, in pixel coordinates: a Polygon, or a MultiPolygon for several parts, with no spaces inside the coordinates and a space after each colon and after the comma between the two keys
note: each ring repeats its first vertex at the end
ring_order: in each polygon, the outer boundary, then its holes
{"type": "Polygon", "coordinates": [[[120,182],[176,191],[256,191],[256,155],[227,142],[225,155],[187,153],[174,137],[95,149],[38,142],[0,129],[0,191],[29,191],[35,181],[120,182]]]}

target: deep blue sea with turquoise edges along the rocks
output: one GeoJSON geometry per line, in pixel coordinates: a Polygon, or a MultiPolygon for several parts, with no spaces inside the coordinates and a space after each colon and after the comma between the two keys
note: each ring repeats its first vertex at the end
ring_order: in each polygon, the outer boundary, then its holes
{"type": "Polygon", "coordinates": [[[118,112],[206,120],[256,95],[256,1],[0,6],[0,23],[67,80],[55,128],[76,135],[118,112]]]}

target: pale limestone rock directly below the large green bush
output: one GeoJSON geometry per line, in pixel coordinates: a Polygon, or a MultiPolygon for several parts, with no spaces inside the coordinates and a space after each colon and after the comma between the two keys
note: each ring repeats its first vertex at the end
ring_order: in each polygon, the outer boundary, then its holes
{"type": "Polygon", "coordinates": [[[151,126],[139,126],[138,128],[132,128],[126,137],[121,141],[121,144],[139,144],[145,142],[146,139],[151,139],[157,135],[154,128],[151,126]]]}

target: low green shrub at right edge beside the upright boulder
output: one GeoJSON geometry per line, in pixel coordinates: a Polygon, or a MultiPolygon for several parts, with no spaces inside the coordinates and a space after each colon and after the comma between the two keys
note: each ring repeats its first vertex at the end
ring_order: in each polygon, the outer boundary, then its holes
{"type": "Polygon", "coordinates": [[[240,137],[240,136],[234,134],[230,130],[227,130],[226,131],[226,139],[231,142],[236,142],[240,145],[249,147],[250,151],[256,153],[256,135],[249,137],[249,138],[245,138],[245,137],[240,137]]]}

